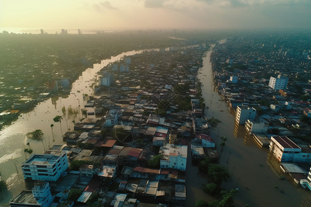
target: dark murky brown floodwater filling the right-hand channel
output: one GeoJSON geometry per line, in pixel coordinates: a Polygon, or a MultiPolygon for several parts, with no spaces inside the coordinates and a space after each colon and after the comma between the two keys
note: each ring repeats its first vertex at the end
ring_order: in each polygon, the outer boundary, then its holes
{"type": "MultiPolygon", "coordinates": [[[[310,192],[301,186],[295,186],[287,176],[283,175],[279,163],[267,148],[261,148],[256,141],[245,135],[243,126],[234,123],[234,113],[214,90],[213,75],[210,62],[211,51],[203,58],[203,66],[199,70],[198,79],[202,82],[202,96],[209,109],[207,118],[215,117],[221,123],[211,129],[211,137],[216,141],[220,153],[220,165],[229,170],[230,180],[223,188],[238,188],[234,195],[235,206],[310,206],[310,192]],[[220,137],[227,137],[223,152],[220,152],[220,137]],[[279,176],[285,176],[281,181],[279,176]]],[[[187,167],[189,164],[187,164],[187,167]]],[[[191,166],[191,165],[190,165],[191,166]]],[[[203,193],[202,184],[207,181],[198,173],[196,167],[187,169],[187,206],[194,206],[198,199],[212,201],[203,193]],[[189,182],[188,179],[192,181],[189,182]]]]}

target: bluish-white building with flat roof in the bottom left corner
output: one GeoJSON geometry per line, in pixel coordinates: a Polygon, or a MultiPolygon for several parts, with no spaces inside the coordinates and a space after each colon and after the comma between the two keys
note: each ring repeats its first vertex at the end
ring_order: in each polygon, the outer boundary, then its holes
{"type": "Polygon", "coordinates": [[[10,201],[11,207],[17,206],[41,206],[48,207],[54,197],[50,193],[48,182],[36,181],[32,190],[23,190],[10,201]]]}

